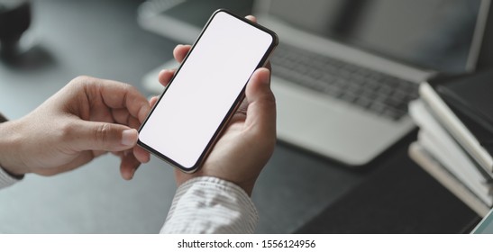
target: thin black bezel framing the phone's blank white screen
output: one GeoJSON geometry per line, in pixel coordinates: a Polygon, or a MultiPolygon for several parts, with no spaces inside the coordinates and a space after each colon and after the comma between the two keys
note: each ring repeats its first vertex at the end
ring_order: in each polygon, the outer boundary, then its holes
{"type": "MultiPolygon", "coordinates": [[[[257,65],[257,67],[255,67],[254,71],[256,69],[258,69],[260,67],[263,67],[263,66],[265,66],[267,64],[267,62],[269,61],[270,55],[272,54],[273,50],[278,45],[278,35],[274,31],[270,31],[269,29],[261,26],[260,24],[253,23],[250,20],[248,20],[246,18],[243,18],[243,17],[241,17],[241,16],[239,16],[237,14],[233,14],[229,10],[226,10],[226,9],[218,9],[218,10],[216,10],[214,12],[214,14],[211,15],[211,17],[209,18],[209,20],[207,21],[207,23],[205,23],[204,28],[202,29],[202,31],[200,31],[200,34],[198,35],[198,37],[197,37],[196,41],[194,42],[192,48],[188,51],[187,56],[181,62],[181,64],[178,67],[175,75],[169,80],[169,85],[172,85],[173,84],[173,80],[175,79],[175,76],[178,76],[181,67],[183,66],[183,64],[185,62],[187,62],[188,56],[193,53],[193,51],[194,51],[194,49],[196,47],[196,43],[202,38],[202,35],[204,34],[204,32],[209,27],[209,24],[215,18],[215,15],[216,14],[219,14],[221,12],[223,12],[225,14],[229,14],[229,15],[233,16],[234,18],[236,18],[236,19],[238,19],[238,20],[240,20],[240,21],[242,21],[244,23],[248,23],[248,24],[250,24],[251,26],[253,26],[253,27],[257,28],[257,29],[260,29],[261,31],[264,31],[264,32],[268,33],[272,37],[271,43],[269,45],[269,48],[266,50],[266,53],[260,59],[259,64],[257,65]]],[[[253,72],[252,72],[252,74],[253,74],[253,72]]],[[[205,146],[205,149],[202,151],[200,157],[197,158],[197,161],[196,161],[196,163],[193,166],[190,166],[190,167],[182,166],[181,164],[179,164],[178,162],[176,162],[172,158],[167,157],[166,155],[160,153],[160,151],[158,151],[158,150],[152,148],[151,146],[145,144],[144,142],[142,142],[142,140],[140,138],[138,139],[137,144],[139,146],[141,146],[142,148],[146,149],[147,151],[151,152],[154,156],[160,157],[160,159],[168,162],[171,166],[177,167],[178,169],[180,169],[183,172],[186,172],[186,173],[193,173],[193,172],[195,172],[200,166],[203,165],[203,163],[205,161],[205,158],[209,155],[209,153],[212,150],[212,148],[214,148],[215,142],[217,141],[217,139],[219,139],[219,137],[223,133],[225,127],[229,124],[229,121],[233,117],[234,112],[236,112],[236,110],[238,109],[239,105],[242,103],[242,100],[243,100],[244,94],[245,94],[245,87],[246,87],[246,85],[247,85],[247,83],[248,83],[249,80],[250,80],[250,78],[243,85],[242,91],[236,97],[236,99],[235,99],[234,103],[231,105],[229,111],[224,115],[223,121],[221,121],[221,123],[219,124],[218,129],[215,130],[215,133],[213,134],[212,138],[209,140],[209,142],[205,146]]],[[[154,112],[154,109],[160,103],[161,98],[166,94],[166,91],[168,90],[169,85],[167,86],[167,88],[165,88],[165,90],[163,91],[163,93],[160,94],[160,98],[159,98],[158,102],[156,104],[154,104],[154,106],[151,109],[151,112],[149,112],[149,114],[147,115],[146,119],[142,122],[142,125],[141,125],[141,127],[139,129],[139,132],[141,132],[142,128],[145,126],[146,122],[151,117],[152,112],[154,112]]]]}

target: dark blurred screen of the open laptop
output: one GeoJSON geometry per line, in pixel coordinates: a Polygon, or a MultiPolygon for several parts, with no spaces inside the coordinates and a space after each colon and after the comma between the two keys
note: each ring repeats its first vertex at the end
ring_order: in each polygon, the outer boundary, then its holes
{"type": "Polygon", "coordinates": [[[468,58],[477,44],[473,37],[481,3],[271,0],[268,14],[298,29],[414,66],[463,72],[471,67],[468,58]]]}

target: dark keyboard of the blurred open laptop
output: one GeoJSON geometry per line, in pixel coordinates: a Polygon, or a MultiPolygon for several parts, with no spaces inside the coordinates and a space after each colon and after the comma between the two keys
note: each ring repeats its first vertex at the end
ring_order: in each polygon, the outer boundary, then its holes
{"type": "Polygon", "coordinates": [[[276,76],[397,121],[418,85],[339,59],[279,44],[270,59],[276,76]]]}

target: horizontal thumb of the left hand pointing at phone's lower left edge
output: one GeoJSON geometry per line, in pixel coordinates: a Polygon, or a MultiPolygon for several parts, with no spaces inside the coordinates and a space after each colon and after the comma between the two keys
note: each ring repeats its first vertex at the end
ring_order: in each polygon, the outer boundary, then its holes
{"type": "Polygon", "coordinates": [[[135,146],[138,139],[137,130],[121,124],[79,121],[73,128],[71,144],[78,150],[122,151],[135,146]]]}

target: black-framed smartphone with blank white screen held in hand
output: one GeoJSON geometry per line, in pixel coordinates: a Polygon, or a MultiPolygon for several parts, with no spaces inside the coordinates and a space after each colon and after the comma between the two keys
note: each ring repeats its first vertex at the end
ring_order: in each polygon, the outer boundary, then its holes
{"type": "Polygon", "coordinates": [[[273,31],[215,11],[142,123],[138,144],[184,172],[196,171],[277,44],[273,31]]]}

